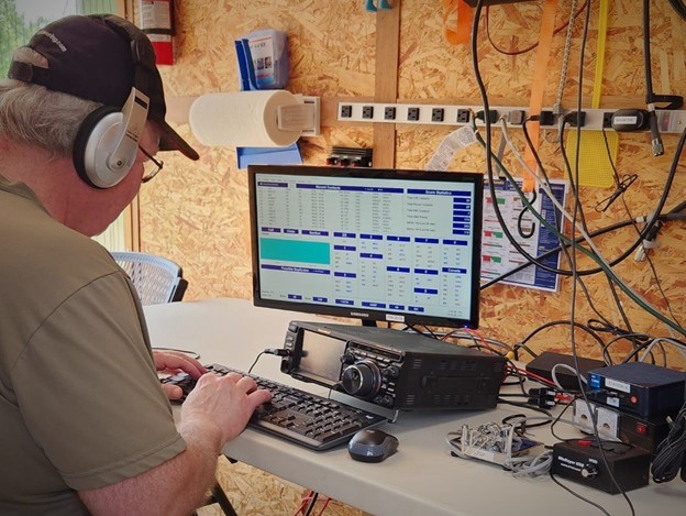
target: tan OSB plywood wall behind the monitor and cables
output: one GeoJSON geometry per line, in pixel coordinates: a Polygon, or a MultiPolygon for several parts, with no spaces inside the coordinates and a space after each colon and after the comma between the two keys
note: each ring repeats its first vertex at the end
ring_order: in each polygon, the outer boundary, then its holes
{"type": "MultiPolygon", "coordinates": [[[[400,9],[398,101],[479,105],[480,97],[472,73],[468,45],[451,45],[444,37],[444,3],[439,0],[391,0],[400,9]],[[400,4],[401,3],[401,4],[400,4]]],[[[582,4],[583,2],[578,2],[582,4]]],[[[590,28],[584,61],[583,103],[590,107],[596,69],[598,1],[593,1],[590,28]]],[[[644,84],[641,41],[641,10],[635,0],[609,2],[607,56],[600,81],[601,108],[643,107],[644,84]]],[[[292,92],[322,98],[374,98],[377,17],[364,10],[363,0],[181,0],[177,4],[177,62],[163,69],[168,97],[195,97],[206,92],[237,91],[233,51],[236,37],[253,30],[273,28],[289,37],[292,92]]],[[[539,39],[542,1],[490,9],[493,42],[509,52],[525,48],[539,39]]],[[[560,0],[555,26],[569,18],[569,1],[560,0]]],[[[575,22],[563,107],[576,106],[579,48],[584,14],[575,22]]],[[[535,50],[506,55],[487,41],[482,23],[478,55],[491,105],[529,106],[535,69],[535,50]]],[[[686,22],[668,2],[652,2],[653,84],[659,94],[686,94],[686,22]]],[[[552,106],[557,94],[566,30],[552,40],[546,62],[543,105],[552,106]]],[[[389,43],[390,44],[390,43],[389,43]]],[[[302,140],[306,163],[323,165],[333,145],[372,146],[370,125],[336,123],[329,120],[319,138],[302,140]]],[[[236,121],[240,123],[240,121],[236,121]]],[[[187,124],[179,132],[195,144],[200,161],[177,155],[163,156],[165,171],[141,193],[141,239],[145,251],[168,255],[182,264],[190,282],[186,298],[217,296],[251,297],[247,186],[245,173],[235,166],[233,149],[208,149],[193,139],[187,124]]],[[[454,128],[453,128],[454,129],[454,128]]],[[[397,127],[396,165],[423,168],[450,128],[397,127]]],[[[621,174],[638,174],[626,194],[626,207],[615,202],[606,212],[594,207],[611,189],[582,188],[582,202],[590,230],[644,216],[662,195],[678,135],[664,134],[665,154],[652,156],[648,133],[619,136],[617,167],[621,174]]],[[[523,152],[521,135],[516,142],[523,152]]],[[[553,132],[542,134],[541,156],[552,177],[564,177],[560,143],[553,132]]],[[[511,161],[507,161],[511,163],[511,161]]],[[[684,165],[667,199],[671,208],[684,199],[684,165]]],[[[469,147],[458,153],[451,169],[484,172],[483,150],[469,147]]],[[[612,260],[633,240],[632,227],[598,239],[604,254],[612,260]]],[[[662,312],[686,318],[685,237],[681,222],[667,224],[660,234],[660,249],[652,253],[655,275],[648,262],[626,260],[619,275],[662,312]]],[[[587,266],[585,261],[582,265],[587,266]]],[[[604,317],[624,326],[612,299],[608,282],[600,275],[584,277],[590,299],[580,286],[574,303],[576,320],[586,323],[604,317]]],[[[544,321],[568,319],[574,283],[562,281],[557,294],[513,286],[494,286],[483,292],[480,332],[514,343],[544,321]]],[[[634,331],[666,336],[666,327],[619,294],[634,331]]],[[[568,328],[557,327],[538,334],[528,343],[533,350],[567,351],[568,328]]],[[[605,336],[609,337],[609,336],[605,336]]],[[[577,332],[579,353],[598,356],[600,347],[583,331],[577,332]]],[[[617,349],[617,351],[622,351],[617,349]]],[[[626,351],[626,347],[623,348],[626,351]]],[[[523,356],[528,360],[528,356],[523,356]]],[[[676,365],[676,364],[675,364],[676,365]]]]}

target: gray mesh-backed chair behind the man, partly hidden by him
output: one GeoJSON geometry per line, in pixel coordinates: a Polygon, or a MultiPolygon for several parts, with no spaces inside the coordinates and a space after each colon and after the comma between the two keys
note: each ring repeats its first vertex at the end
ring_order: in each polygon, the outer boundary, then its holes
{"type": "MultiPolygon", "coordinates": [[[[142,305],[162,305],[184,298],[188,282],[177,263],[150,253],[121,251],[111,254],[129,274],[142,305]]],[[[219,504],[226,516],[237,516],[219,482],[214,484],[207,505],[214,503],[219,504]]]]}

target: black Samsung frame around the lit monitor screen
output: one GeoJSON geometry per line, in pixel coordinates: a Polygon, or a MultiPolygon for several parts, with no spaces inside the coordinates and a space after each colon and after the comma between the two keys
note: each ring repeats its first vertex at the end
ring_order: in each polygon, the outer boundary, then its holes
{"type": "Polygon", "coordinates": [[[472,328],[479,325],[479,294],[480,294],[480,270],[482,270],[482,219],[484,213],[484,176],[472,172],[438,172],[438,171],[416,171],[405,168],[368,168],[368,167],[333,167],[314,165],[248,165],[248,199],[250,199],[250,234],[251,234],[251,262],[253,283],[253,305],[263,308],[275,308],[289,311],[300,311],[305,314],[316,314],[322,316],[344,317],[365,321],[400,322],[407,326],[433,326],[447,328],[472,328]],[[361,177],[361,178],[384,178],[384,179],[410,179],[421,182],[455,182],[474,185],[474,217],[473,217],[473,249],[472,253],[472,292],[473,300],[468,318],[447,318],[442,316],[428,316],[396,312],[389,310],[364,309],[335,307],[303,301],[286,301],[265,299],[261,296],[259,284],[259,261],[258,261],[258,239],[257,227],[257,199],[255,178],[258,174],[287,174],[301,176],[322,177],[361,177]],[[398,320],[399,317],[402,320],[398,320]]]}

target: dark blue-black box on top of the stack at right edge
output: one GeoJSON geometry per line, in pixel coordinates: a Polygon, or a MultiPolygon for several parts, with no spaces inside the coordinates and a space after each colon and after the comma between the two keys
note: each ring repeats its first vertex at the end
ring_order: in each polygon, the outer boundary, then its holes
{"type": "Polygon", "coordinates": [[[676,413],[684,404],[686,373],[644,362],[588,372],[588,398],[643,417],[676,413]]]}

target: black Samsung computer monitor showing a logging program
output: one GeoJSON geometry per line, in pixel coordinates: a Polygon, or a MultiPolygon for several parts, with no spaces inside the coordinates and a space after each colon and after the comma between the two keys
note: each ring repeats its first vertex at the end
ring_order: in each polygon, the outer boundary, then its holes
{"type": "Polygon", "coordinates": [[[247,168],[255,306],[476,328],[484,178],[247,168]]]}

